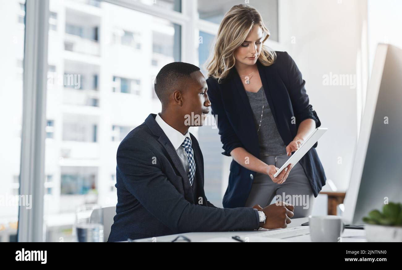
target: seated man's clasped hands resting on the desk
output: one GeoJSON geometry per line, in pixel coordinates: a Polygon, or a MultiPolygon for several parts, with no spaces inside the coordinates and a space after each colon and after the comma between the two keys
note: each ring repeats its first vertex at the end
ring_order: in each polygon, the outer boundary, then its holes
{"type": "Polygon", "coordinates": [[[252,208],[263,211],[267,216],[267,220],[263,225],[264,229],[286,228],[287,224],[291,223],[290,218],[293,217],[293,210],[295,209],[293,205],[285,202],[273,203],[263,209],[259,205],[254,205],[252,208]]]}

